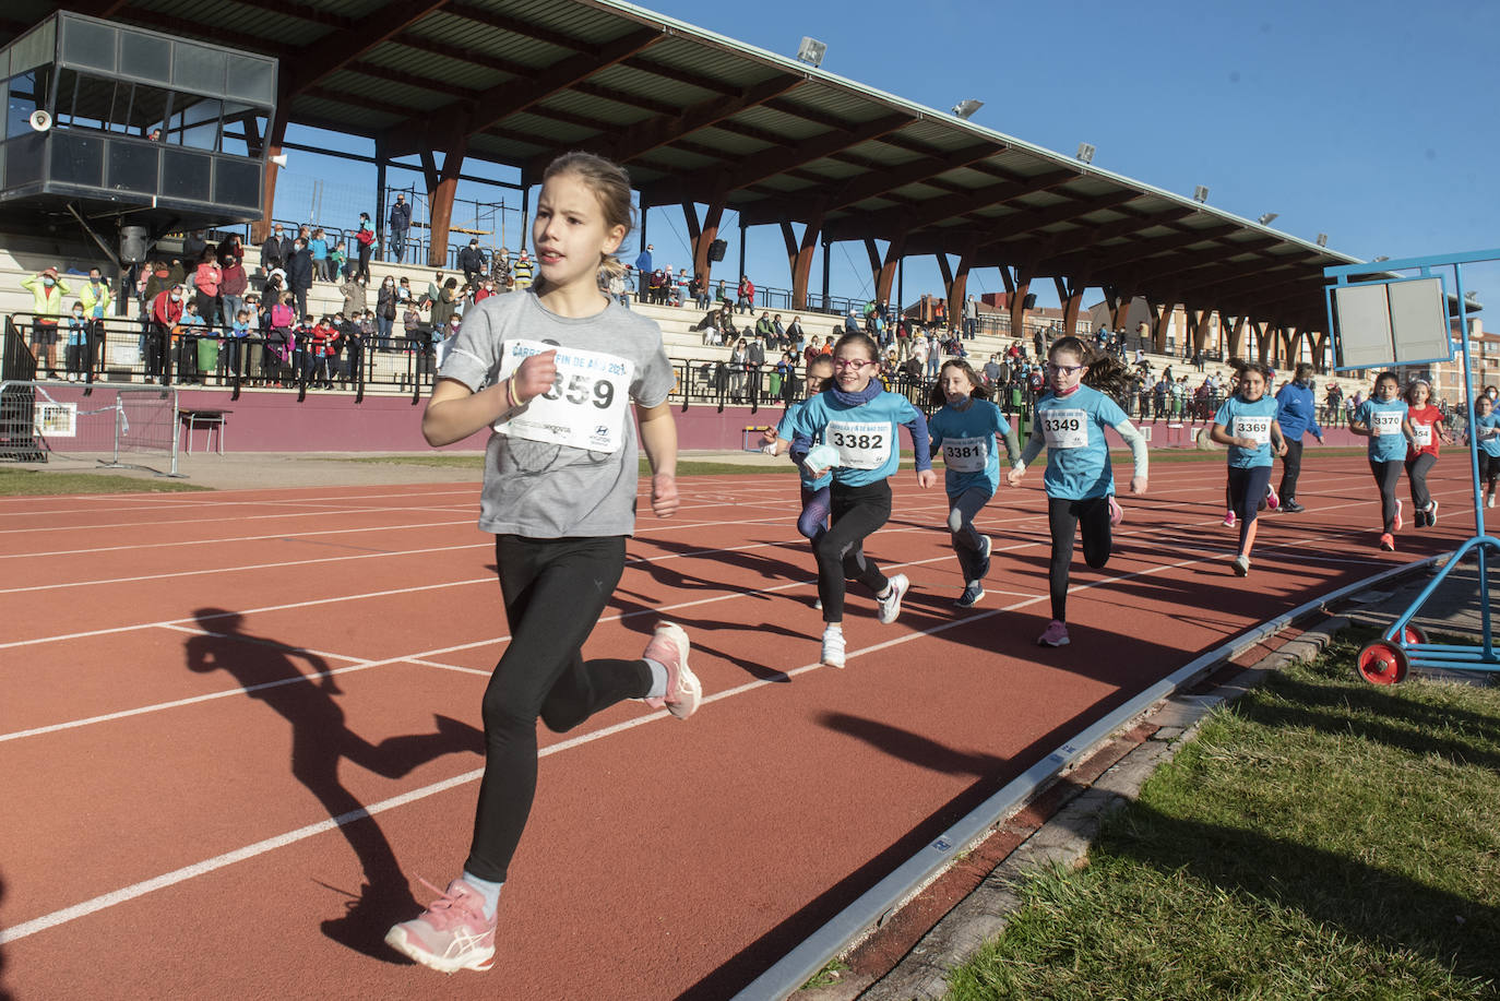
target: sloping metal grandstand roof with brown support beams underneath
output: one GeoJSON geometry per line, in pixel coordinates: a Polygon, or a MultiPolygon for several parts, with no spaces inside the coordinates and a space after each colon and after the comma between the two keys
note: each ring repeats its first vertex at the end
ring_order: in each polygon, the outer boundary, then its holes
{"type": "MultiPolygon", "coordinates": [[[[58,8],[10,0],[0,42],[58,8]]],[[[518,167],[621,161],[644,206],[724,200],[1030,278],[1278,326],[1326,326],[1323,267],[1359,263],[616,0],[132,0],[69,9],[278,56],[288,120],[518,167]]]]}

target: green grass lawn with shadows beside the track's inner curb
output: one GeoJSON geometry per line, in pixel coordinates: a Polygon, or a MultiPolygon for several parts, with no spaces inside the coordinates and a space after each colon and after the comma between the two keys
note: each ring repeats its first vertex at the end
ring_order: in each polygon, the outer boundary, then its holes
{"type": "Polygon", "coordinates": [[[1204,722],[950,998],[1500,996],[1500,689],[1346,633],[1204,722]]]}

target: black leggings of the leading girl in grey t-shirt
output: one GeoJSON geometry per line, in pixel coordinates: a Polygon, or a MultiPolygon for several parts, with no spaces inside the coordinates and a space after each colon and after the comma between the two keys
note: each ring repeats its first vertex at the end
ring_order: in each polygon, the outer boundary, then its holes
{"type": "Polygon", "coordinates": [[[510,645],[484,689],[484,777],[466,872],[506,881],[537,791],[537,717],[562,732],[651,690],[645,660],[579,654],[626,567],[624,536],[495,537],[510,645]]]}

